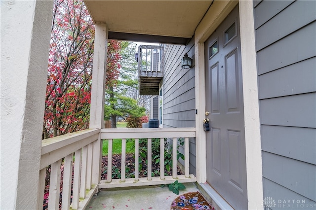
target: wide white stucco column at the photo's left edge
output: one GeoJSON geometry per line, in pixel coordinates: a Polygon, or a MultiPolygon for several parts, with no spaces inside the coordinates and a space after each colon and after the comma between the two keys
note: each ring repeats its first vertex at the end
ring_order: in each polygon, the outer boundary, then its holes
{"type": "Polygon", "coordinates": [[[0,7],[0,209],[37,209],[53,1],[0,7]]]}

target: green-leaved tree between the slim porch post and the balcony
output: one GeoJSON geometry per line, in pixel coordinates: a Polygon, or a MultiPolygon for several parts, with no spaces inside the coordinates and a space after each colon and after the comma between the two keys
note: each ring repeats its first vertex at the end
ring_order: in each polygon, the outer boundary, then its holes
{"type": "Polygon", "coordinates": [[[110,75],[108,76],[107,73],[104,116],[105,120],[111,119],[111,127],[116,128],[117,117],[122,119],[142,117],[146,109],[139,103],[137,97],[133,98],[130,94],[138,89],[137,62],[134,59],[135,43],[114,40],[111,42],[119,43],[119,46],[108,45],[108,65],[114,69],[107,69],[110,75]],[[110,58],[118,58],[118,60],[114,61],[110,58]]]}

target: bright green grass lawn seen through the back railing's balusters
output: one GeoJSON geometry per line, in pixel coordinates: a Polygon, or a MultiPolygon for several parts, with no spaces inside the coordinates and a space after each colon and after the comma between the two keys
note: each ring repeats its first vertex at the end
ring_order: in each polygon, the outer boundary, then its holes
{"type": "MultiPolygon", "coordinates": [[[[102,145],[102,155],[108,155],[109,141],[103,140],[102,145]]],[[[122,140],[115,139],[113,140],[112,145],[112,153],[113,154],[121,154],[122,152],[122,140]]],[[[126,140],[126,153],[134,153],[135,152],[135,140],[126,140]]]]}

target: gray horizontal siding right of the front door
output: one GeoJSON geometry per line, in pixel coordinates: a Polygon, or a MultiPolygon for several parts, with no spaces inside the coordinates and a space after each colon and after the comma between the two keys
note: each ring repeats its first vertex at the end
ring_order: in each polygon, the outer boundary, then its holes
{"type": "Polygon", "coordinates": [[[316,209],[316,1],[253,5],[263,196],[316,209]]]}

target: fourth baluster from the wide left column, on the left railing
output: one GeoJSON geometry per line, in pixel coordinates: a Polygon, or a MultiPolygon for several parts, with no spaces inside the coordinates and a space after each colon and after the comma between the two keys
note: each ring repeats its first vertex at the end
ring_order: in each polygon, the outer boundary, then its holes
{"type": "Polygon", "coordinates": [[[81,176],[81,149],[75,152],[75,169],[74,169],[74,188],[73,188],[73,204],[72,209],[79,208],[79,191],[81,176]]]}

